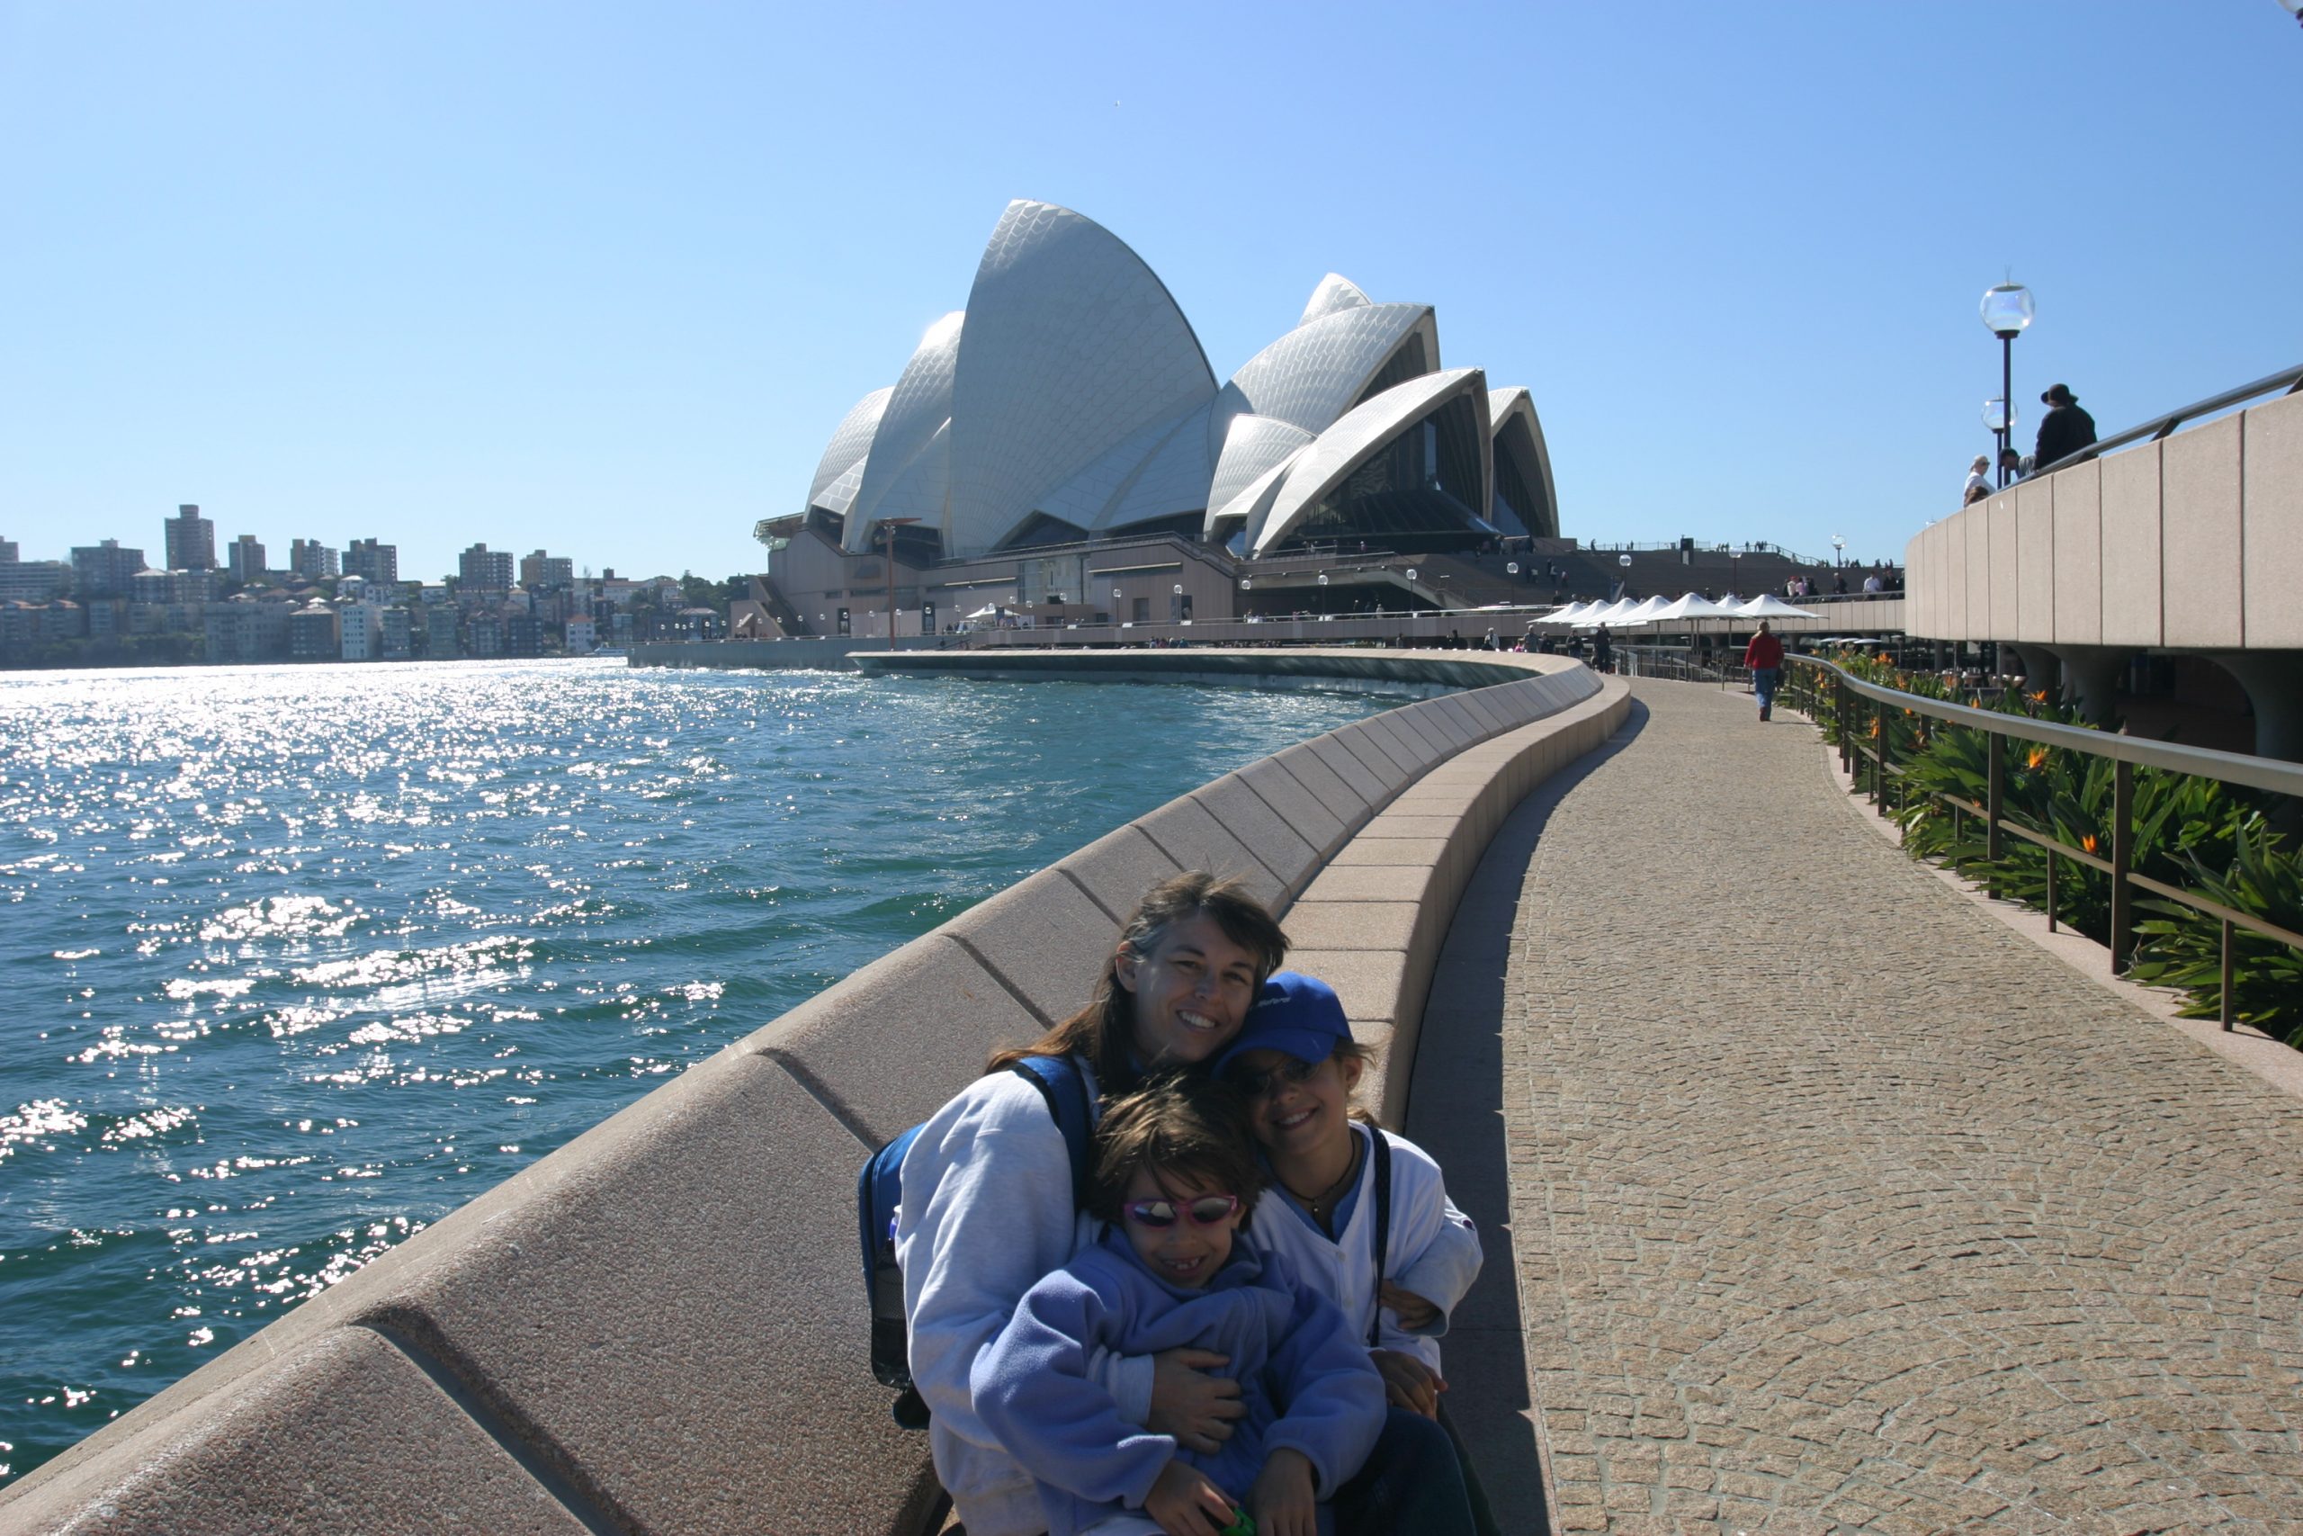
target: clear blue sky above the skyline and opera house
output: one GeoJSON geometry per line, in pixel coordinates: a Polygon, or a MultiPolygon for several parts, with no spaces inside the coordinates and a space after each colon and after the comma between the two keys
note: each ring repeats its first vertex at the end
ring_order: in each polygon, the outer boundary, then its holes
{"type": "Polygon", "coordinates": [[[760,569],[1013,196],[1218,378],[1343,272],[1527,385],[1561,527],[1898,555],[1987,440],[2303,362],[2273,0],[0,0],[0,537],[760,569]]]}

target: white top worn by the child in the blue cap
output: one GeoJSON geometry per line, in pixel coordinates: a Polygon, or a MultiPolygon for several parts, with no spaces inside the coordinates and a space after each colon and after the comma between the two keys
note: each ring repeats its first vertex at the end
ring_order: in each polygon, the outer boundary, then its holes
{"type": "Polygon", "coordinates": [[[1391,1234],[1382,1271],[1375,1262],[1373,1154],[1359,1161],[1359,1200],[1352,1202],[1352,1221],[1345,1223],[1343,1232],[1327,1237],[1301,1211],[1290,1209],[1285,1193],[1267,1188],[1255,1204],[1248,1237],[1260,1248],[1285,1255],[1303,1283],[1327,1292],[1359,1329],[1361,1340],[1375,1326],[1377,1273],[1437,1306],[1439,1317],[1416,1333],[1400,1329],[1398,1315],[1386,1308],[1377,1345],[1414,1354],[1439,1370],[1439,1336],[1446,1333],[1449,1313],[1479,1278],[1479,1230],[1446,1197],[1439,1163],[1428,1151],[1405,1135],[1375,1131],[1359,1121],[1352,1121],[1352,1133],[1382,1135],[1391,1142],[1391,1234]]]}

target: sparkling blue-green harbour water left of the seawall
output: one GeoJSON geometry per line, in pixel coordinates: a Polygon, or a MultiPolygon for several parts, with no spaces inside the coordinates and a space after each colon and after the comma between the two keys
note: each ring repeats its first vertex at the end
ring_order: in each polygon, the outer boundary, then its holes
{"type": "Polygon", "coordinates": [[[0,677],[0,1483],[873,956],[1389,702],[0,677]]]}

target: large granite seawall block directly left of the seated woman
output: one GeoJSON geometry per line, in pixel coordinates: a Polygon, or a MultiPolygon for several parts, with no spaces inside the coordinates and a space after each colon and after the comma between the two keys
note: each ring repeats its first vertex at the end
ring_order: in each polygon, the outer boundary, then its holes
{"type": "Polygon", "coordinates": [[[613,1524],[884,1527],[926,1492],[926,1442],[864,1361],[845,1195],[866,1149],[776,1062],[728,1055],[578,1138],[562,1179],[375,1317],[613,1524]]]}

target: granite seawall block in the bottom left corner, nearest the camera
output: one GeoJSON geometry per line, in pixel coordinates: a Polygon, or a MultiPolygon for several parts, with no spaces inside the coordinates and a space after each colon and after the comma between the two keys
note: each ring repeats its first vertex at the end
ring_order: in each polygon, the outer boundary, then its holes
{"type": "Polygon", "coordinates": [[[0,1511],[9,1531],[474,1531],[587,1536],[421,1366],[371,1329],[332,1329],[175,1414],[136,1458],[0,1511]],[[90,1518],[92,1515],[92,1518],[90,1518]]]}

